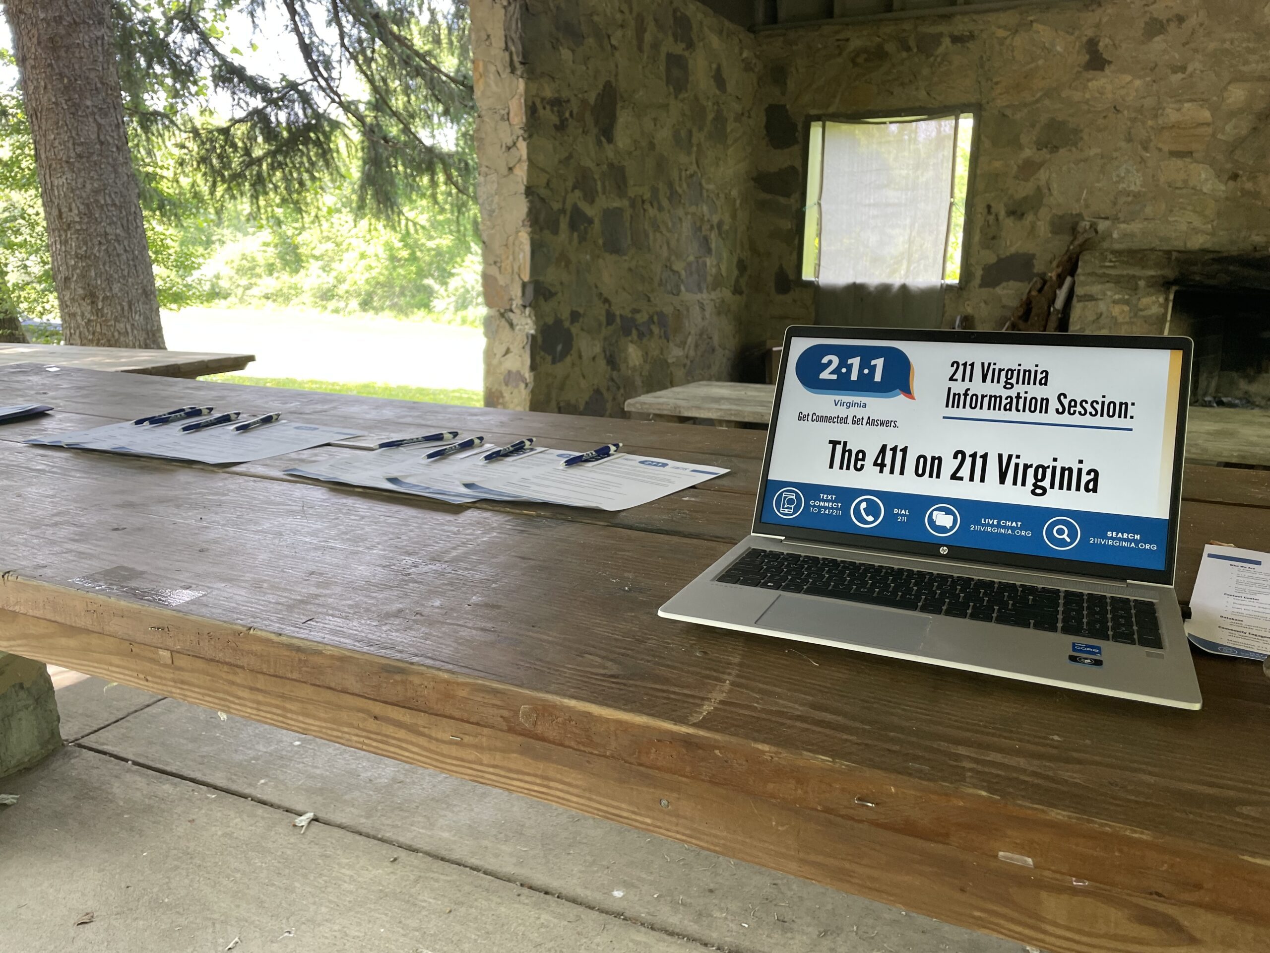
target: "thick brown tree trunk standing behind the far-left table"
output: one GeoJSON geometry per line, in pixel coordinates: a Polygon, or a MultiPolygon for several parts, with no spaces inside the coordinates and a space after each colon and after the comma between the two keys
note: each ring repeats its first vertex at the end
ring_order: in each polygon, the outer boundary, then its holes
{"type": "Polygon", "coordinates": [[[110,0],[5,0],[67,344],[164,347],[110,0]]]}

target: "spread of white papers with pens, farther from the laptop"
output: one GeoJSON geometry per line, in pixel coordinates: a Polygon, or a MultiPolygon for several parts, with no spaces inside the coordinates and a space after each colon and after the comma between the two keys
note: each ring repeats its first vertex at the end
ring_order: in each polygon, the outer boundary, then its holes
{"type": "Polygon", "coordinates": [[[319,427],[293,421],[277,421],[250,431],[235,431],[231,426],[224,424],[185,433],[180,429],[184,423],[189,421],[163,424],[108,423],[89,431],[32,438],[27,442],[203,464],[245,464],[309,450],[359,433],[356,429],[319,427]]]}

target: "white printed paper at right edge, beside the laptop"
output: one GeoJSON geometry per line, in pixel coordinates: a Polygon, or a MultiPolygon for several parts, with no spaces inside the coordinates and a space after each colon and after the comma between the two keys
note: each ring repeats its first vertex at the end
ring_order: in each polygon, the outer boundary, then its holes
{"type": "Polygon", "coordinates": [[[1186,634],[1214,654],[1270,654],[1270,553],[1204,546],[1186,634]]]}

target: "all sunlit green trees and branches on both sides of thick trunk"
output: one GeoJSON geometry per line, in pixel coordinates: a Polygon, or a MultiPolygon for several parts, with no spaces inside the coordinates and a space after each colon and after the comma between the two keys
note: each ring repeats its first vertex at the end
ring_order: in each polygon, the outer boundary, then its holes
{"type": "MultiPolygon", "coordinates": [[[[466,0],[113,9],[160,306],[300,304],[479,324],[466,0]],[[226,34],[231,10],[253,23],[272,13],[290,33],[271,42],[297,44],[307,74],[246,69],[226,34]]],[[[0,266],[24,314],[56,315],[15,91],[0,93],[0,266]]]]}

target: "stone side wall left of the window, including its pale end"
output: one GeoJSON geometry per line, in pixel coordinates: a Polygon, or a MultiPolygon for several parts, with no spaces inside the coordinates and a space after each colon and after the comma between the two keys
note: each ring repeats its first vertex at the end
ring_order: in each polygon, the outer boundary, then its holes
{"type": "Polygon", "coordinates": [[[511,0],[472,8],[484,30],[474,46],[486,399],[622,416],[636,394],[733,377],[753,37],[696,0],[531,0],[516,50],[518,10],[511,0]],[[490,60],[505,60],[497,83],[490,60]]]}

